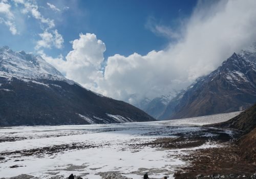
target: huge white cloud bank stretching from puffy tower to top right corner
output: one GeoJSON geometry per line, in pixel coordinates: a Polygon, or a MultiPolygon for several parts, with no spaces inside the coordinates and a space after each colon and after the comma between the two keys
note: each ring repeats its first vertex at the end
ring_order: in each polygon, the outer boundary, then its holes
{"type": "Polygon", "coordinates": [[[206,3],[198,3],[179,37],[162,51],[111,56],[103,73],[104,43],[94,34],[81,34],[66,60],[55,66],[95,92],[133,104],[186,87],[256,41],[256,1],[206,3]]]}

